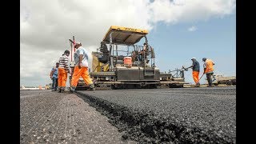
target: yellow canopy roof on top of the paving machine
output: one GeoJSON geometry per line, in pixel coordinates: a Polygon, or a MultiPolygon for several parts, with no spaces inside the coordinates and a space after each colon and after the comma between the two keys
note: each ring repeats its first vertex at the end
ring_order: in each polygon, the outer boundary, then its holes
{"type": "Polygon", "coordinates": [[[102,41],[110,43],[110,34],[112,36],[112,42],[115,44],[134,45],[134,43],[139,42],[141,38],[148,34],[148,30],[110,26],[110,29],[107,31],[102,41]]]}

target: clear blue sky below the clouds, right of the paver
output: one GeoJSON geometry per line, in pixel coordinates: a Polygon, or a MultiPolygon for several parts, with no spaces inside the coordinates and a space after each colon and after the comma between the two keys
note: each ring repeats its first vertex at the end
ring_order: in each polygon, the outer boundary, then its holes
{"type": "MultiPolygon", "coordinates": [[[[236,75],[236,16],[212,18],[205,22],[169,25],[159,22],[148,34],[150,46],[156,53],[155,62],[161,71],[190,66],[197,58],[202,69],[202,58],[215,62],[215,74],[236,75]],[[188,28],[195,26],[196,30],[188,28]]],[[[191,69],[186,80],[193,82],[191,69]]],[[[201,73],[200,73],[201,76],[201,73]]]]}

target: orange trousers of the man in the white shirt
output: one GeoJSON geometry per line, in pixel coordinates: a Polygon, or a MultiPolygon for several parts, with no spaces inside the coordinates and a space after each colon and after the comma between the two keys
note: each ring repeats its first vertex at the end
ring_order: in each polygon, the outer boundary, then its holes
{"type": "Polygon", "coordinates": [[[86,85],[92,84],[93,82],[90,79],[90,75],[88,73],[88,68],[82,66],[81,69],[78,66],[74,66],[74,73],[72,75],[71,86],[76,87],[78,85],[79,78],[82,77],[86,82],[86,85]]]}

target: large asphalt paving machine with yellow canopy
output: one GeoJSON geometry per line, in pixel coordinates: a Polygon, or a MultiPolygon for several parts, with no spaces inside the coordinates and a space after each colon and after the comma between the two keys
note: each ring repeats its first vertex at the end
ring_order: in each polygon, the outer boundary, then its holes
{"type": "MultiPolygon", "coordinates": [[[[178,77],[160,72],[154,63],[154,48],[147,34],[148,30],[110,26],[100,47],[92,52],[90,78],[96,90],[183,87],[188,83],[182,69],[177,70],[178,77]],[[137,45],[142,39],[142,46],[137,45]]],[[[86,89],[82,78],[77,89],[86,89]]]]}

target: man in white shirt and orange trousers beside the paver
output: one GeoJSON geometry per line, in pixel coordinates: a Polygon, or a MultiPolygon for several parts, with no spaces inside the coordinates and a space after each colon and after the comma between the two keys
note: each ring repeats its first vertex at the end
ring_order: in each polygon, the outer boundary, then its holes
{"type": "Polygon", "coordinates": [[[70,92],[74,92],[76,86],[78,85],[78,80],[80,77],[86,82],[86,85],[90,87],[90,90],[95,90],[94,83],[91,81],[88,72],[88,51],[82,47],[81,42],[75,42],[74,48],[77,49],[74,53],[74,72],[72,75],[70,92]]]}

